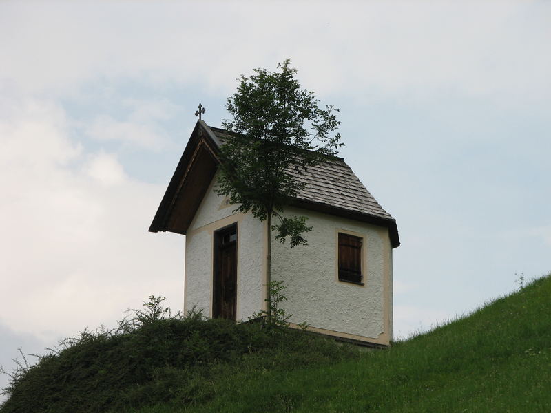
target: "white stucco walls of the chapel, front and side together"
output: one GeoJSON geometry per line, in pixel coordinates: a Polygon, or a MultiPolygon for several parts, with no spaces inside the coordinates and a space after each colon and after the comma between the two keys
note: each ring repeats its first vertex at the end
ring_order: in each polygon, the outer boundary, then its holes
{"type": "MultiPolygon", "coordinates": [[[[215,177],[216,180],[216,177],[215,177]]],[[[214,182],[214,181],[213,181],[214,182]]],[[[186,236],[185,310],[194,304],[211,315],[213,234],[238,224],[237,319],[247,320],[264,306],[265,222],[234,207],[213,191],[205,195],[186,236]]],[[[284,303],[289,321],[306,322],[327,332],[346,333],[388,343],[392,325],[392,249],[388,230],[333,215],[289,208],[287,215],[306,215],[313,230],[309,245],[289,248],[272,237],[272,278],[288,288],[284,303]],[[364,237],[364,286],[338,281],[337,234],[364,237]]]]}

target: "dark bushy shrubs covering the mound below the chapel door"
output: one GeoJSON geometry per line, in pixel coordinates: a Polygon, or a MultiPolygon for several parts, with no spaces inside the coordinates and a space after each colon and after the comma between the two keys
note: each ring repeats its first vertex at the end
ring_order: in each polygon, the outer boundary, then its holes
{"type": "Polygon", "coordinates": [[[11,374],[1,413],[121,412],[131,407],[190,405],[211,399],[217,383],[354,357],[330,340],[262,324],[234,324],[191,312],[171,315],[162,298],[119,321],[85,330],[58,350],[11,374]],[[308,349],[308,352],[304,350],[308,349]]]}

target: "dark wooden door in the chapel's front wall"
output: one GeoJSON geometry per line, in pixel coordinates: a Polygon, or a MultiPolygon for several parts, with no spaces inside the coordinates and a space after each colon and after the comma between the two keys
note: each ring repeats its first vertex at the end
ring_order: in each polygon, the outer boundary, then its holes
{"type": "Polygon", "coordinates": [[[237,310],[237,225],[216,231],[214,236],[215,318],[236,320],[237,310]]]}

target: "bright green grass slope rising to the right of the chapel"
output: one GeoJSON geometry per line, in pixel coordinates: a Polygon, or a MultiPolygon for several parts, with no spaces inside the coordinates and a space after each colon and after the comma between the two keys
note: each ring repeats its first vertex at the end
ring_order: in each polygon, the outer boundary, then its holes
{"type": "Polygon", "coordinates": [[[551,277],[359,361],[218,383],[208,403],[138,411],[551,412],[551,277]]]}

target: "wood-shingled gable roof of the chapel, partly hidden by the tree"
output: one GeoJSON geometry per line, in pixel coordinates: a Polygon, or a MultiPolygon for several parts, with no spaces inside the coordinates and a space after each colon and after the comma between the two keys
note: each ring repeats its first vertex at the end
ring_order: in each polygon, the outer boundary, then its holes
{"type": "MultiPolygon", "coordinates": [[[[218,167],[218,148],[229,132],[198,120],[149,231],[184,234],[218,167]]],[[[306,187],[293,206],[386,226],[399,246],[396,220],[386,212],[342,158],[333,158],[295,175],[306,187]]]]}

